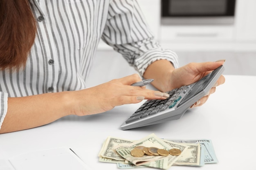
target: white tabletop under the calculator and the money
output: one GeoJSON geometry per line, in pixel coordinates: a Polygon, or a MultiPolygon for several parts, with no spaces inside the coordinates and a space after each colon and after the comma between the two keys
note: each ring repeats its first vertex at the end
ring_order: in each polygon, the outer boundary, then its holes
{"type": "MultiPolygon", "coordinates": [[[[142,103],[119,106],[106,113],[85,117],[64,117],[54,123],[0,135],[0,159],[34,150],[72,148],[95,170],[115,170],[116,164],[98,161],[108,136],[141,139],[151,133],[166,139],[211,139],[219,160],[201,170],[249,170],[255,168],[256,77],[226,75],[208,102],[186,112],[179,120],[121,130],[120,125],[142,103]]],[[[173,166],[172,170],[195,167],[173,166]]],[[[144,168],[151,169],[151,168],[144,168]]]]}

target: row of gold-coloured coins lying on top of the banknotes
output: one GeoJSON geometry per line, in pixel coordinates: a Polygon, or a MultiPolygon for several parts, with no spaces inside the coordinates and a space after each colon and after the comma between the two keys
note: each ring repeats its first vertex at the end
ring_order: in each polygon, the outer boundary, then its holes
{"type": "Polygon", "coordinates": [[[174,155],[174,156],[178,156],[181,154],[181,150],[179,149],[171,149],[171,150],[165,150],[165,149],[159,149],[159,148],[155,148],[155,147],[144,147],[144,146],[136,146],[132,151],[131,151],[131,155],[133,157],[142,157],[144,155],[149,155],[149,156],[168,156],[168,155],[174,155]]]}

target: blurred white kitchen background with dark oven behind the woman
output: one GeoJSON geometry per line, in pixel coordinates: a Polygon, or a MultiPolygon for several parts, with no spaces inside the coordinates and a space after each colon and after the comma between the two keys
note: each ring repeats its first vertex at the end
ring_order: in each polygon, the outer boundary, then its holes
{"type": "MultiPolygon", "coordinates": [[[[256,0],[137,0],[155,38],[189,62],[226,59],[226,75],[256,75],[256,0]]],[[[137,73],[103,42],[88,82],[137,73]],[[107,72],[104,72],[108,70],[107,72]]],[[[99,83],[99,81],[98,81],[99,83]]]]}

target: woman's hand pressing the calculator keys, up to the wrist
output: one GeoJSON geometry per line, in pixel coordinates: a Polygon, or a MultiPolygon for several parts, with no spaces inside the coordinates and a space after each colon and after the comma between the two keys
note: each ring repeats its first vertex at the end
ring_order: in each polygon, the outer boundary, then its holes
{"type": "Polygon", "coordinates": [[[92,88],[74,91],[72,99],[74,107],[71,114],[92,115],[111,110],[123,104],[135,104],[143,99],[166,99],[167,93],[148,90],[139,86],[130,86],[141,81],[139,75],[134,74],[92,88]]]}

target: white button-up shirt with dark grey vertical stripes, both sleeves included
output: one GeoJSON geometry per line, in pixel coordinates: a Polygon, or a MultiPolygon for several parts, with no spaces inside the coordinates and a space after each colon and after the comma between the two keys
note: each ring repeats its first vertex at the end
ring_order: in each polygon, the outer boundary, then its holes
{"type": "Polygon", "coordinates": [[[24,70],[0,71],[0,127],[8,97],[86,88],[100,39],[141,75],[160,59],[178,66],[177,55],[154,40],[136,0],[29,2],[37,19],[36,39],[24,70]]]}

